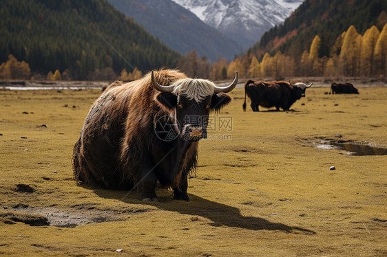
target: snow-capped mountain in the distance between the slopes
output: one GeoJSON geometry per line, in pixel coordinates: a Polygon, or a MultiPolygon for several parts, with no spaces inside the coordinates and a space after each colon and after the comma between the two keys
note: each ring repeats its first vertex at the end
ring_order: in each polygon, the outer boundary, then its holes
{"type": "Polygon", "coordinates": [[[226,36],[250,47],[303,0],[172,0],[226,36]]]}

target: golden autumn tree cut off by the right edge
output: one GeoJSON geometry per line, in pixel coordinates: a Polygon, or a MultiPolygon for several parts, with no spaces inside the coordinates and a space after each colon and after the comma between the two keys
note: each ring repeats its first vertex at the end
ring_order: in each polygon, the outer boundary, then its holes
{"type": "Polygon", "coordinates": [[[381,30],[375,45],[375,69],[378,75],[387,75],[387,24],[381,30]]]}

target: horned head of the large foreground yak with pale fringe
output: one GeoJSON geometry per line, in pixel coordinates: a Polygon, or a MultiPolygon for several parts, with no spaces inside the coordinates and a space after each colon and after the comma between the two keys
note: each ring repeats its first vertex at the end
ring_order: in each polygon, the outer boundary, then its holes
{"type": "Polygon", "coordinates": [[[199,141],[207,138],[207,125],[210,111],[220,111],[231,102],[226,93],[232,91],[238,82],[238,72],[227,87],[217,87],[209,80],[184,78],[172,85],[158,84],[151,73],[155,89],[160,91],[156,99],[171,112],[174,129],[186,141],[199,141]]]}

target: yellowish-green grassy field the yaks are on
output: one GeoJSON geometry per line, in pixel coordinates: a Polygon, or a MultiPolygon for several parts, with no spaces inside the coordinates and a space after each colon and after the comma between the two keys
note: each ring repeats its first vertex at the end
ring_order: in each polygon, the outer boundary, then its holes
{"type": "Polygon", "coordinates": [[[72,181],[72,147],[101,91],[0,91],[0,254],[386,256],[387,157],[315,146],[387,147],[387,87],[326,91],[259,113],[231,92],[220,117],[232,129],[200,142],[191,201],[160,188],[159,203],[72,181]]]}

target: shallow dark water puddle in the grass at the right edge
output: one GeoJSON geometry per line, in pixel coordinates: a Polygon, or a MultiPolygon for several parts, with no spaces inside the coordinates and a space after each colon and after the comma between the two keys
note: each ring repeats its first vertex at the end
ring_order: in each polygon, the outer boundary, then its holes
{"type": "Polygon", "coordinates": [[[326,141],[315,143],[315,147],[321,150],[345,150],[347,155],[365,156],[365,155],[387,155],[387,148],[377,146],[367,142],[352,141],[326,141]]]}

